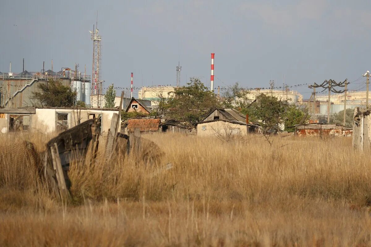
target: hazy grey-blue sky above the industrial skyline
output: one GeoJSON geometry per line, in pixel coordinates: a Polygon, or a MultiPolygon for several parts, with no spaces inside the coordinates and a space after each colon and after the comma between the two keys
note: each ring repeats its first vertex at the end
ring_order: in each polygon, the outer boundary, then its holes
{"type": "MultiPolygon", "coordinates": [[[[215,53],[214,87],[283,83],[310,97],[303,84],[348,79],[365,90],[371,70],[369,0],[2,0],[0,71],[92,73],[89,30],[97,20],[102,36],[104,87],[181,85],[199,77],[210,86],[210,53],[215,53]],[[302,86],[295,86],[295,85],[302,86]]],[[[126,89],[125,89],[126,90],[126,89]]],[[[119,94],[120,90],[117,90],[119,94]]],[[[137,95],[137,90],[135,94],[137,95]]]]}

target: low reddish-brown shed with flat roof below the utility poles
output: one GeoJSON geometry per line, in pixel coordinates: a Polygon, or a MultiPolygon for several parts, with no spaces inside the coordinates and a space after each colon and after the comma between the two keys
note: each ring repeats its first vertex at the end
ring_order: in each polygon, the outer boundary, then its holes
{"type": "Polygon", "coordinates": [[[352,127],[342,126],[340,124],[302,124],[296,126],[298,136],[310,137],[334,137],[334,136],[352,136],[352,127]]]}

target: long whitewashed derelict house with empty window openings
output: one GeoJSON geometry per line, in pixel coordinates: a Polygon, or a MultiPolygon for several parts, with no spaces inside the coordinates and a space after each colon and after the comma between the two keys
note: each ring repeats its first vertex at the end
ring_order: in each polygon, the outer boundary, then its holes
{"type": "Polygon", "coordinates": [[[118,109],[94,109],[70,107],[22,107],[0,109],[1,133],[15,131],[61,132],[88,119],[97,118],[103,134],[111,126],[111,119],[118,109]]]}

